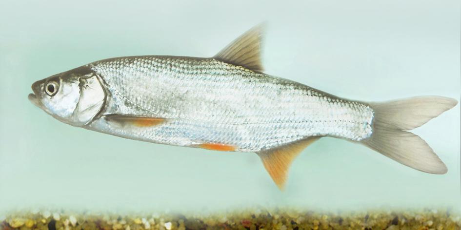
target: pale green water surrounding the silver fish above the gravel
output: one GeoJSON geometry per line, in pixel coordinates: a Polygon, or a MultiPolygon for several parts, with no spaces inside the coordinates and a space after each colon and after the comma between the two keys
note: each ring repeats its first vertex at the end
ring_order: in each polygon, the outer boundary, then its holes
{"type": "Polygon", "coordinates": [[[460,98],[460,2],[0,2],[0,211],[461,207],[460,105],[414,132],[448,167],[432,175],[322,138],[280,192],[254,153],[156,145],[74,128],[33,106],[38,79],[102,58],[210,57],[268,22],[266,73],[364,101],[460,98]]]}

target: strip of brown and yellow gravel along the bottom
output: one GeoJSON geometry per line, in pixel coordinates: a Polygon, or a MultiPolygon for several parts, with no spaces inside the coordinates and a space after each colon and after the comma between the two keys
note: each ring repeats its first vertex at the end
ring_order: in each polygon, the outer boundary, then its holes
{"type": "Polygon", "coordinates": [[[77,213],[11,213],[0,220],[0,230],[461,230],[460,215],[447,210],[244,210],[211,215],[77,213]]]}

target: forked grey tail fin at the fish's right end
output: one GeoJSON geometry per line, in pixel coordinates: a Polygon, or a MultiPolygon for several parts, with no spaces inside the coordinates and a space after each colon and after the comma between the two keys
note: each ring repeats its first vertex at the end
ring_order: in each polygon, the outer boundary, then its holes
{"type": "Polygon", "coordinates": [[[447,168],[431,147],[418,135],[406,131],[423,125],[457,103],[442,96],[369,103],[375,111],[374,129],[372,136],[362,143],[411,168],[444,174],[447,168]]]}

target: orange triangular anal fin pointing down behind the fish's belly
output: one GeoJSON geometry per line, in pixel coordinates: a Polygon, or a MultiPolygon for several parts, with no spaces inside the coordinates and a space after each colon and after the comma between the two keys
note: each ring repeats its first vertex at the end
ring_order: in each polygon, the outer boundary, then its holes
{"type": "Polygon", "coordinates": [[[298,156],[303,149],[318,140],[320,137],[309,137],[307,139],[295,141],[274,149],[264,150],[258,153],[262,163],[266,168],[272,180],[277,184],[280,190],[285,186],[288,177],[288,169],[291,162],[298,156]]]}

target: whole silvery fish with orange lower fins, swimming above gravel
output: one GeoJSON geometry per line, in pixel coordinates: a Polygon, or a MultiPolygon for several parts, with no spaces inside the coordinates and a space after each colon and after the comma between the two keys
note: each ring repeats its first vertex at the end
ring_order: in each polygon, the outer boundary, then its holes
{"type": "Polygon", "coordinates": [[[264,25],[211,58],[108,58],[32,84],[29,100],[66,124],[124,138],[257,153],[283,190],[293,160],[329,136],[362,144],[403,165],[447,172],[413,130],[458,101],[415,96],[350,100],[263,72],[264,25]]]}

